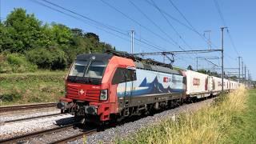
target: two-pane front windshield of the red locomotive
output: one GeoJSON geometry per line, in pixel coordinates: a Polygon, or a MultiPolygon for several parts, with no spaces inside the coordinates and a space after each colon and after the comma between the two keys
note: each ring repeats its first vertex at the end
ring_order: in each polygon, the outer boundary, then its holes
{"type": "Polygon", "coordinates": [[[106,64],[101,61],[81,61],[74,62],[69,76],[87,77],[87,78],[102,78],[106,64]]]}

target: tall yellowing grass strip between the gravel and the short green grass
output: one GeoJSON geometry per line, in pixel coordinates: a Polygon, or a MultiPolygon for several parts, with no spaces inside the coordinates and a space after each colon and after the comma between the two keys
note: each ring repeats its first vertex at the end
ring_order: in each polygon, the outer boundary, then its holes
{"type": "Polygon", "coordinates": [[[236,114],[246,108],[244,87],[219,98],[212,106],[196,112],[180,114],[176,120],[167,119],[160,124],[139,130],[117,143],[225,143],[229,127],[236,114]],[[221,100],[220,100],[221,99],[221,100]]]}

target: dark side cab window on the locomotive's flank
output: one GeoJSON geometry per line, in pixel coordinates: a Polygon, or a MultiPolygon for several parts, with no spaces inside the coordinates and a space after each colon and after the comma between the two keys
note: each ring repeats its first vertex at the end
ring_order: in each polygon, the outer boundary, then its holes
{"type": "Polygon", "coordinates": [[[118,69],[114,73],[112,84],[135,81],[136,79],[137,78],[135,70],[118,67],[118,69]]]}

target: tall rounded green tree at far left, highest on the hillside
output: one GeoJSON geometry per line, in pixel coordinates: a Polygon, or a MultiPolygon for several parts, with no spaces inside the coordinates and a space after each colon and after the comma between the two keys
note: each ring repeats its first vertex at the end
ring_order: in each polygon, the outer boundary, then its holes
{"type": "Polygon", "coordinates": [[[14,9],[7,16],[4,24],[6,32],[10,34],[7,38],[9,39],[8,42],[13,42],[11,46],[4,47],[4,50],[24,52],[36,46],[38,41],[41,40],[40,26],[42,22],[35,18],[34,14],[26,14],[26,10],[22,8],[14,9]]]}

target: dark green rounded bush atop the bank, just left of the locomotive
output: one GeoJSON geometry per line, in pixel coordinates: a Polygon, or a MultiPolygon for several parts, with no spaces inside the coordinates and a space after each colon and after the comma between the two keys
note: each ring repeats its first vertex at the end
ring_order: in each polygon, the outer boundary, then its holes
{"type": "Polygon", "coordinates": [[[30,50],[26,53],[26,58],[42,69],[63,70],[67,66],[66,54],[58,48],[30,50]]]}

